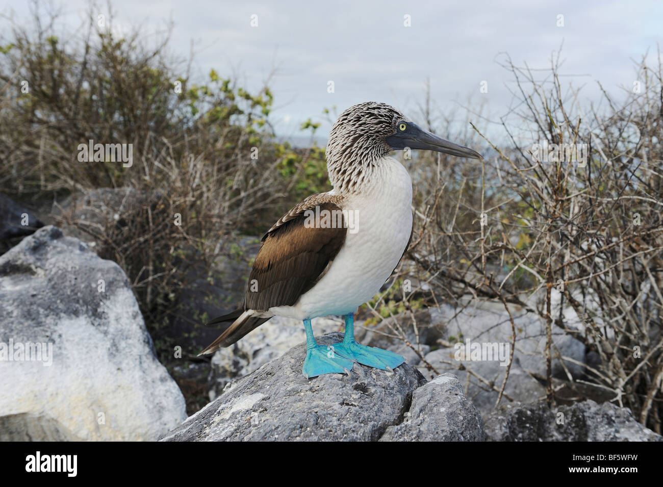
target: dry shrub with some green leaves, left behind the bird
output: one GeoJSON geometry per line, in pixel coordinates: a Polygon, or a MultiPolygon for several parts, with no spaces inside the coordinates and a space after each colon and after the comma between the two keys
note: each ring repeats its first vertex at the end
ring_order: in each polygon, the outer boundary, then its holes
{"type": "Polygon", "coordinates": [[[81,219],[74,204],[56,223],[87,234],[100,256],[121,264],[149,325],[158,325],[176,312],[182,287],[201,277],[192,268],[209,269],[233,233],[258,234],[280,216],[290,188],[277,193],[272,182],[282,179],[284,158],[301,159],[274,142],[269,88],[253,95],[214,71],[196,85],[191,60],[168,54],[170,30],[118,37],[112,15],[102,28],[97,11],[65,29],[66,39],[56,35],[58,16],[38,9],[32,25],[5,30],[0,191],[99,196],[86,203],[96,217],[81,219]],[[81,162],[79,145],[90,140],[131,144],[131,163],[110,153],[81,162]]]}

